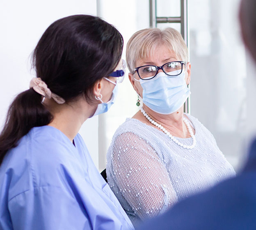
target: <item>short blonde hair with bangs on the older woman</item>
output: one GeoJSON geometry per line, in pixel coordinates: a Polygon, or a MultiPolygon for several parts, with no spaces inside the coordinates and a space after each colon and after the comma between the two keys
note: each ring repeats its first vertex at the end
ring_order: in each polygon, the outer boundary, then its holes
{"type": "Polygon", "coordinates": [[[130,72],[133,74],[137,67],[136,62],[152,55],[159,45],[166,45],[173,50],[177,57],[181,58],[179,61],[189,61],[187,45],[176,29],[142,29],[131,36],[126,46],[126,62],[130,72]]]}

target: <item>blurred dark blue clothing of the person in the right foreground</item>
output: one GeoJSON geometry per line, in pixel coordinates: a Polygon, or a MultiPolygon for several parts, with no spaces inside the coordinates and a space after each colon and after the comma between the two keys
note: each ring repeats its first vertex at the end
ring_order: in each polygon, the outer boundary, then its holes
{"type": "Polygon", "coordinates": [[[187,198],[137,230],[256,230],[256,140],[237,177],[187,198]]]}

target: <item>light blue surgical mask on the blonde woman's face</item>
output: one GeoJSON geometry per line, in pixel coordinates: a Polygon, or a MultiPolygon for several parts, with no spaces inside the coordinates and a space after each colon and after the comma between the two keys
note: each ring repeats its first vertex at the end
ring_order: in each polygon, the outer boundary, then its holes
{"type": "Polygon", "coordinates": [[[185,81],[185,71],[176,77],[160,72],[151,80],[140,79],[139,82],[143,88],[143,103],[156,113],[176,112],[190,95],[190,89],[185,81]]]}

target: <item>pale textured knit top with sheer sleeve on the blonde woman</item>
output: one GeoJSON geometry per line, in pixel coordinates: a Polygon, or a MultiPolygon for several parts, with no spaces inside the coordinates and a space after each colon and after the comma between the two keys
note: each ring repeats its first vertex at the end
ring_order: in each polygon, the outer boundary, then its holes
{"type": "MultiPolygon", "coordinates": [[[[184,149],[160,129],[126,119],[107,151],[107,180],[133,225],[177,201],[235,176],[213,135],[186,114],[197,144],[184,149]]],[[[177,138],[186,145],[192,138],[177,138]]]]}

